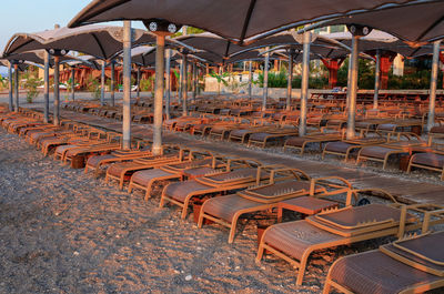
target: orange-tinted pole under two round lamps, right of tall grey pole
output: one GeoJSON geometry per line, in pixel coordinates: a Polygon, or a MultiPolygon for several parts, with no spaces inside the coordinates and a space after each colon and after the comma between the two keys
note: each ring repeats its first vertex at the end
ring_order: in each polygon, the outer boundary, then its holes
{"type": "Polygon", "coordinates": [[[152,153],[162,153],[162,109],[163,109],[163,77],[165,67],[165,36],[157,36],[155,47],[155,89],[154,89],[154,125],[152,153]]]}

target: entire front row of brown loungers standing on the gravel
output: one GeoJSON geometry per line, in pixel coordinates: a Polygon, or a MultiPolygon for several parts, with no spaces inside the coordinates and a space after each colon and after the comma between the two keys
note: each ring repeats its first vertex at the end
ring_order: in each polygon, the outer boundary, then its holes
{"type": "MultiPolygon", "coordinates": [[[[9,132],[40,145],[48,133],[56,131],[18,113],[2,113],[0,121],[9,132]]],[[[276,209],[285,201],[297,201],[306,209],[314,209],[320,201],[329,202],[329,207],[334,209],[271,225],[260,240],[256,262],[262,260],[265,250],[290,262],[297,268],[297,285],[303,282],[313,251],[397,236],[398,241],[379,250],[337,260],[329,272],[324,292],[334,287],[345,293],[413,293],[444,286],[441,249],[444,233],[430,233],[433,225],[444,223],[444,206],[402,205],[377,189],[390,203],[360,206],[356,204],[361,203],[363,191],[353,189],[341,178],[312,179],[297,169],[263,165],[253,159],[229,158],[184,146],[165,146],[161,155],[152,155],[145,148],[121,151],[110,148],[113,133],[100,133],[85,125],[65,123],[64,126],[79,141],[54,144],[51,149],[54,158],[65,159],[69,152],[80,150],[88,158],[85,172],[104,172],[107,181],[117,180],[121,189],[128,183],[129,192],[143,190],[145,199],[153,195],[154,182],[163,183],[160,206],[167,203],[180,206],[183,219],[192,202],[203,203],[199,227],[205,220],[225,225],[230,227],[230,243],[234,241],[240,217],[276,209]],[[98,153],[100,144],[103,149],[98,153]],[[421,235],[405,236],[420,229],[421,235]]]]}

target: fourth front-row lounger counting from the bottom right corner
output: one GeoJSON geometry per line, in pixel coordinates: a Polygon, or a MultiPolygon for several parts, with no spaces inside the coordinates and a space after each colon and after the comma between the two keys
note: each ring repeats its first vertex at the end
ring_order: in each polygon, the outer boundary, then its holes
{"type": "Polygon", "coordinates": [[[270,178],[272,169],[273,166],[262,166],[260,162],[250,159],[229,160],[224,172],[167,185],[162,191],[160,207],[163,207],[165,202],[179,205],[182,207],[181,217],[185,219],[193,197],[260,184],[270,178]]]}

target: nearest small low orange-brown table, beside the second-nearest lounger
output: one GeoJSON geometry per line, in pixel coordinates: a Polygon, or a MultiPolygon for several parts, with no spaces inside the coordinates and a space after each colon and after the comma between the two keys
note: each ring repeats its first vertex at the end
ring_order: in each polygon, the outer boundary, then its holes
{"type": "Polygon", "coordinates": [[[282,221],[282,211],[284,209],[305,215],[313,215],[332,207],[337,207],[337,202],[311,196],[289,199],[278,203],[278,222],[282,221]]]}

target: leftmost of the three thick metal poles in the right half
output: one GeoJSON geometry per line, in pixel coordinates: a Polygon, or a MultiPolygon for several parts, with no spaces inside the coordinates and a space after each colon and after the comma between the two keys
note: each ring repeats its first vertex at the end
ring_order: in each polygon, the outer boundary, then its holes
{"type": "Polygon", "coordinates": [[[306,133],[306,112],[309,102],[309,75],[310,75],[310,42],[311,32],[304,32],[302,55],[302,81],[301,81],[301,116],[299,122],[299,135],[306,133]]]}

